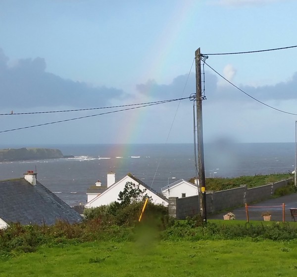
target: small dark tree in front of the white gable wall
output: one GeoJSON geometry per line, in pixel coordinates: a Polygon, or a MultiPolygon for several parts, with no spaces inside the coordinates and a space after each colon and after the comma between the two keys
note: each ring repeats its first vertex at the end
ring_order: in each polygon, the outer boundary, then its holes
{"type": "Polygon", "coordinates": [[[121,201],[123,206],[135,204],[144,201],[146,198],[151,199],[147,194],[147,189],[142,190],[139,184],[126,182],[123,191],[120,191],[118,200],[121,201]]]}

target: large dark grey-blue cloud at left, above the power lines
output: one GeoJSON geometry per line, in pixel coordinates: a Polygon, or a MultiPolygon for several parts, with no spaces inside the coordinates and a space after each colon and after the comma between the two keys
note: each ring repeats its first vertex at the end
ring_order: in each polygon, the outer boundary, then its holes
{"type": "Polygon", "coordinates": [[[10,67],[8,58],[0,50],[0,108],[15,110],[30,107],[95,107],[114,98],[124,97],[122,90],[90,87],[46,72],[43,58],[19,59],[10,67]]]}

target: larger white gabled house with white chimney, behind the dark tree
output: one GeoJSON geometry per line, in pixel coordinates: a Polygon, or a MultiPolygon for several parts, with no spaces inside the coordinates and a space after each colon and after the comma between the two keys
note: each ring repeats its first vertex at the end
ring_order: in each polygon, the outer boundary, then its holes
{"type": "Polygon", "coordinates": [[[118,196],[121,191],[124,190],[127,182],[139,184],[141,190],[147,190],[148,196],[151,197],[151,202],[154,204],[162,204],[168,206],[168,200],[161,193],[156,192],[148,187],[143,181],[136,178],[132,174],[127,174],[119,181],[115,182],[115,173],[110,172],[107,174],[107,186],[101,185],[101,182],[97,182],[96,186],[92,186],[88,189],[88,203],[86,208],[95,208],[102,205],[108,205],[111,202],[118,201],[118,196]],[[104,188],[104,189],[102,189],[104,188]]]}

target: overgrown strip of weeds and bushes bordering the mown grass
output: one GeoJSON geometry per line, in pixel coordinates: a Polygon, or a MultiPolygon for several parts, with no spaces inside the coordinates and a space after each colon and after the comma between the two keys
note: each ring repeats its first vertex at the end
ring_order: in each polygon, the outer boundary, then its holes
{"type": "MultiPolygon", "coordinates": [[[[34,252],[41,245],[61,247],[77,245],[88,241],[126,242],[145,239],[166,241],[205,241],[218,239],[240,240],[250,238],[252,241],[272,240],[291,241],[297,239],[297,225],[287,223],[253,224],[238,222],[203,223],[199,216],[187,218],[180,222],[168,217],[167,208],[148,205],[142,222],[138,222],[141,204],[120,208],[112,215],[112,221],[104,211],[105,208],[92,211],[88,220],[78,224],[58,221],[48,225],[21,225],[12,223],[0,230],[0,256],[10,258],[19,253],[34,252]]],[[[286,252],[284,248],[282,250],[286,252]]],[[[96,258],[92,263],[99,263],[96,258]]]]}

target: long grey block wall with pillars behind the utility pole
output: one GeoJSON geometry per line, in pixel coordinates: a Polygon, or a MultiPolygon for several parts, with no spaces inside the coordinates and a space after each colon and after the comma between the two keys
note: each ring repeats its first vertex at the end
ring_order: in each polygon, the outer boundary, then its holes
{"type": "MultiPolygon", "coordinates": [[[[206,193],[206,212],[207,214],[218,213],[223,210],[230,210],[235,207],[244,206],[245,203],[255,203],[271,197],[275,190],[288,185],[293,178],[282,180],[267,185],[247,188],[241,185],[238,188],[227,189],[222,191],[208,191],[206,193]]],[[[182,220],[186,217],[194,216],[199,212],[198,195],[178,198],[169,197],[169,215],[176,219],[182,220]]]]}

